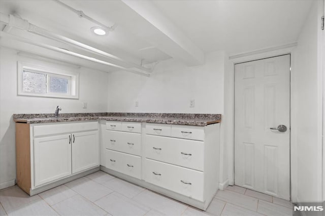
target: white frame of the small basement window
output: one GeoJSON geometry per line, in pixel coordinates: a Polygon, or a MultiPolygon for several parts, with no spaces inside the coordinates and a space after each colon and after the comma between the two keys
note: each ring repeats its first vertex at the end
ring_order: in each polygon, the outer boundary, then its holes
{"type": "Polygon", "coordinates": [[[44,67],[42,65],[34,65],[26,62],[17,62],[18,64],[18,95],[24,96],[37,96],[37,97],[57,97],[57,98],[70,98],[79,99],[79,74],[72,71],[63,71],[56,68],[44,67]],[[49,83],[49,77],[57,77],[67,79],[68,77],[68,93],[50,92],[47,85],[46,93],[30,93],[23,91],[23,71],[30,71],[47,75],[47,83],[49,83]]]}

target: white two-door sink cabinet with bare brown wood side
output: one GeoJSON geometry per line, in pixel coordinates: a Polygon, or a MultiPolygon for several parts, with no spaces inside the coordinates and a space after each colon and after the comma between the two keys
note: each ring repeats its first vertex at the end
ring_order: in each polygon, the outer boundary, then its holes
{"type": "Polygon", "coordinates": [[[35,194],[99,167],[98,127],[98,122],[16,123],[17,185],[35,194]]]}

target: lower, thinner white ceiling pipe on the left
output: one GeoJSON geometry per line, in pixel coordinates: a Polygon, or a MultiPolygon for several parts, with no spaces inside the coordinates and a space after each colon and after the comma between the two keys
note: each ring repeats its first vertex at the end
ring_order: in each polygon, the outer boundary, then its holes
{"type": "Polygon", "coordinates": [[[6,33],[6,32],[3,32],[3,31],[0,32],[0,37],[1,38],[8,38],[10,40],[14,39],[16,41],[20,41],[20,42],[31,44],[31,45],[38,46],[38,47],[42,47],[42,48],[45,48],[45,49],[48,49],[48,50],[53,50],[53,51],[56,51],[56,52],[76,56],[76,57],[86,59],[86,60],[89,60],[89,61],[93,61],[93,62],[96,62],[96,63],[116,67],[116,68],[119,68],[121,70],[126,70],[126,71],[129,71],[129,72],[132,72],[134,74],[139,74],[139,75],[143,75],[143,76],[146,76],[146,77],[150,76],[150,74],[147,74],[147,73],[144,73],[144,72],[139,72],[139,71],[136,71],[136,70],[132,70],[132,69],[129,69],[127,67],[116,65],[116,64],[113,64],[113,63],[110,63],[110,62],[107,62],[107,61],[103,61],[103,60],[99,60],[99,59],[96,59],[96,58],[93,58],[93,57],[85,56],[85,55],[75,53],[75,52],[72,52],[72,51],[69,51],[69,50],[66,50],[66,49],[61,49],[61,48],[57,48],[57,47],[54,47],[54,46],[51,46],[51,45],[38,43],[38,42],[32,41],[30,39],[26,39],[26,38],[23,38],[23,37],[18,37],[16,35],[6,33]]]}

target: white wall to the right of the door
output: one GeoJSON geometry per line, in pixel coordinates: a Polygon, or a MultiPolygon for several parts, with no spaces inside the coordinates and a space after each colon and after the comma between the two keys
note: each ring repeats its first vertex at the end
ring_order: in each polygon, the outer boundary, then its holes
{"type": "MultiPolygon", "coordinates": [[[[293,89],[296,119],[300,121],[291,125],[297,131],[293,137],[296,146],[297,175],[293,181],[297,184],[297,201],[312,202],[322,199],[322,116],[321,116],[321,70],[317,55],[322,46],[318,43],[320,31],[320,13],[317,12],[319,2],[314,2],[309,16],[299,35],[298,46],[293,59],[293,89]],[[319,29],[319,30],[318,30],[319,29]],[[318,60],[317,60],[318,59],[318,60]],[[297,143],[295,143],[297,142],[297,143]]],[[[320,8],[320,7],[319,7],[320,8]]]]}

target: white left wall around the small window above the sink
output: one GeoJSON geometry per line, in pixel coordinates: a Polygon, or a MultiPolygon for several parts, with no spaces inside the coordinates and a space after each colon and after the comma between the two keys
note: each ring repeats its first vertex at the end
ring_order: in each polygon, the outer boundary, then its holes
{"type": "Polygon", "coordinates": [[[54,113],[57,105],[61,113],[107,112],[107,73],[86,68],[59,65],[18,56],[16,51],[1,47],[0,55],[0,188],[14,184],[15,124],[13,114],[54,113]],[[44,98],[17,95],[17,61],[48,67],[73,70],[80,74],[79,99],[44,98]],[[82,109],[82,101],[88,108],[82,109]]]}

